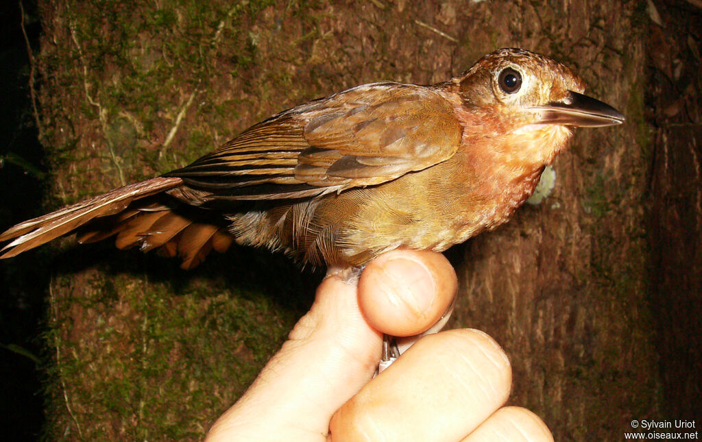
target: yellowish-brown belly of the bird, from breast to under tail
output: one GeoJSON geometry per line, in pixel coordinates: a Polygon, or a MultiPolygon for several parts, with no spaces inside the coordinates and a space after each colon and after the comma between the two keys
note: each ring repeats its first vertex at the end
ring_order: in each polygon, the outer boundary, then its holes
{"type": "Polygon", "coordinates": [[[305,264],[359,267],[395,248],[443,251],[509,220],[541,169],[517,178],[456,161],[340,194],[232,215],[237,242],[305,264]],[[460,163],[458,163],[460,166],[460,163]]]}

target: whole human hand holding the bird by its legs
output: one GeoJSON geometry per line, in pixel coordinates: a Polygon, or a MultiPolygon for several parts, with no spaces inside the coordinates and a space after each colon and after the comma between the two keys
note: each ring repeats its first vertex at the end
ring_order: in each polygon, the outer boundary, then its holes
{"type": "Polygon", "coordinates": [[[207,441],[552,441],[533,413],[500,408],[509,361],[477,330],[423,337],[373,379],[378,329],[419,333],[455,292],[446,258],[413,250],[376,258],[358,286],[324,279],[310,312],[207,441]]]}

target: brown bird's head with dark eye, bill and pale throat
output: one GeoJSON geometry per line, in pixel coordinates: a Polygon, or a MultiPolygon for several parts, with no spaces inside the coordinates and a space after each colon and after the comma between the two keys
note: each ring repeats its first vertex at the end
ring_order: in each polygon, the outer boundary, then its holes
{"type": "Polygon", "coordinates": [[[624,121],[614,107],[583,95],[585,83],[571,69],[524,49],[489,53],[451,82],[466,122],[486,123],[482,130],[512,140],[505,143],[512,153],[540,157],[544,163],[567,145],[570,127],[624,121]]]}

